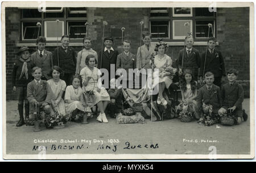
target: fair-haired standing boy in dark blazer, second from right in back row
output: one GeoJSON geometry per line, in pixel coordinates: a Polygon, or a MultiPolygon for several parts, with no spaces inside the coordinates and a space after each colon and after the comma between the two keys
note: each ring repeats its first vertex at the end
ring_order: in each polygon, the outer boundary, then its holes
{"type": "Polygon", "coordinates": [[[179,57],[178,57],[178,67],[179,67],[179,73],[185,69],[190,69],[192,70],[192,75],[197,81],[197,76],[199,75],[199,67],[201,65],[201,57],[199,50],[193,48],[193,37],[192,36],[186,36],[185,37],[185,49],[181,49],[179,51],[179,57]],[[184,58],[183,58],[184,54],[184,58]],[[182,62],[183,58],[183,62],[182,62]],[[181,71],[181,66],[182,66],[182,71],[181,71]]]}

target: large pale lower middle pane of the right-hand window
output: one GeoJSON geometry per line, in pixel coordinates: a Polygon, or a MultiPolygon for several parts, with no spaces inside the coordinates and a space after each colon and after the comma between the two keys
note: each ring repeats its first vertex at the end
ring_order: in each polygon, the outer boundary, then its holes
{"type": "Polygon", "coordinates": [[[184,39],[185,36],[192,32],[192,20],[173,20],[172,27],[174,39],[184,39]]]}

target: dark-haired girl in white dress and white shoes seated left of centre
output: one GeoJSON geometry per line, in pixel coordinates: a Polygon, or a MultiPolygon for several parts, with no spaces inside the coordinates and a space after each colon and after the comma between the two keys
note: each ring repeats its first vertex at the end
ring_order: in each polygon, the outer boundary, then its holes
{"type": "Polygon", "coordinates": [[[110,103],[110,96],[106,89],[102,87],[100,80],[101,71],[95,67],[97,64],[96,57],[89,54],[85,59],[85,64],[87,65],[81,70],[80,75],[82,77],[82,90],[84,93],[86,91],[94,92],[94,95],[86,95],[86,100],[88,100],[88,105],[93,107],[97,104],[100,110],[100,115],[97,117],[97,121],[108,123],[108,119],[105,115],[105,109],[110,103]]]}

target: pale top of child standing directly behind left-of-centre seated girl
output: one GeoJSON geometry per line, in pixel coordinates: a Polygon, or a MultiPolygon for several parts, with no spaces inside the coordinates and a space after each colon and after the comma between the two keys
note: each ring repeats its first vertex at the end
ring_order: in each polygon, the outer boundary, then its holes
{"type": "Polygon", "coordinates": [[[80,71],[86,67],[85,64],[85,58],[89,55],[92,54],[96,60],[98,60],[98,55],[97,52],[95,50],[93,50],[92,48],[89,50],[86,50],[85,48],[82,49],[81,51],[79,51],[79,53],[77,53],[77,65],[76,65],[76,73],[80,74],[80,71]]]}

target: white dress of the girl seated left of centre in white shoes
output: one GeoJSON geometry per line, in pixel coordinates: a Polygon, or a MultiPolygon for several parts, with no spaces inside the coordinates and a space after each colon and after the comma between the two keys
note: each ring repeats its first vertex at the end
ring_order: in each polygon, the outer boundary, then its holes
{"type": "Polygon", "coordinates": [[[110,102],[110,96],[108,92],[104,87],[102,87],[101,81],[98,81],[98,78],[101,76],[101,71],[99,69],[97,69],[96,67],[93,67],[93,70],[90,70],[89,67],[84,67],[84,69],[81,70],[80,75],[82,77],[82,83],[84,83],[87,77],[93,78],[93,79],[90,78],[88,85],[85,86],[86,91],[90,91],[90,90],[94,91],[94,95],[90,95],[90,96],[86,95],[86,100],[89,107],[93,107],[95,104],[97,104],[100,101],[110,102]],[[98,88],[101,89],[100,92],[97,91],[98,88]]]}

